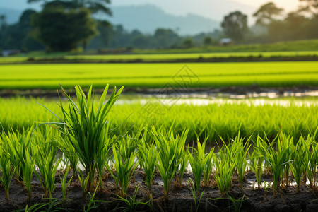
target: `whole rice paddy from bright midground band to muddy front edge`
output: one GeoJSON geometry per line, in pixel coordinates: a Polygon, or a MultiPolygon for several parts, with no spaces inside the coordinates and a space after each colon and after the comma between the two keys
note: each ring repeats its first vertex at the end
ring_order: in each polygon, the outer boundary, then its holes
{"type": "Polygon", "coordinates": [[[317,67],[3,64],[1,92],[61,95],[0,98],[0,211],[315,210],[317,97],[136,98],[125,89],[317,88],[317,67]]]}

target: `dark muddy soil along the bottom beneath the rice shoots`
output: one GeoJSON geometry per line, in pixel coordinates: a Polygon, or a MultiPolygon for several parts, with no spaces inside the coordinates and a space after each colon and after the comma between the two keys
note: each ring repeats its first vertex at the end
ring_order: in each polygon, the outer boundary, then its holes
{"type": "MultiPolygon", "coordinates": [[[[71,175],[70,172],[68,179],[71,175]]],[[[136,211],[195,211],[194,197],[190,189],[192,186],[189,183],[189,177],[193,177],[191,173],[186,172],[184,174],[181,187],[176,187],[175,182],[172,182],[167,200],[163,198],[163,181],[160,175],[156,175],[152,186],[152,206],[151,202],[148,201],[148,189],[143,182],[143,176],[143,171],[137,169],[134,179],[131,180],[129,185],[129,196],[126,196],[126,199],[131,199],[134,196],[136,187],[139,186],[136,192],[136,202],[142,201],[147,204],[135,204],[136,211]]],[[[271,180],[270,175],[265,174],[263,180],[269,182],[271,180]]],[[[302,185],[300,192],[296,191],[295,186],[285,187],[274,198],[272,189],[257,189],[252,184],[254,181],[254,173],[248,172],[241,188],[237,177],[233,177],[230,192],[223,196],[220,196],[218,187],[216,187],[214,182],[211,182],[209,187],[201,187],[200,192],[196,196],[199,211],[235,211],[235,207],[239,208],[240,206],[240,211],[318,211],[318,192],[310,189],[308,185],[302,185]],[[202,192],[204,194],[199,202],[199,196],[202,192]],[[233,199],[232,201],[229,196],[233,199]]],[[[57,188],[53,193],[53,198],[56,201],[53,204],[47,204],[42,209],[48,208],[50,205],[57,211],[83,211],[84,207],[87,209],[90,194],[87,193],[83,198],[78,178],[72,179],[68,187],[68,200],[64,206],[61,204],[61,182],[58,175],[56,185],[57,188]]],[[[26,205],[30,208],[30,206],[35,204],[40,206],[40,204],[49,203],[49,199],[45,198],[43,189],[36,177],[33,177],[32,198],[29,202],[27,201],[27,192],[23,184],[16,181],[16,179],[11,182],[9,199],[6,200],[4,196],[4,188],[0,187],[0,211],[24,211],[26,205]]],[[[94,200],[97,202],[91,205],[96,206],[93,211],[125,211],[129,208],[124,201],[119,200],[112,177],[103,179],[103,189],[96,192],[94,200]]],[[[134,211],[134,209],[130,211],[134,211]]]]}

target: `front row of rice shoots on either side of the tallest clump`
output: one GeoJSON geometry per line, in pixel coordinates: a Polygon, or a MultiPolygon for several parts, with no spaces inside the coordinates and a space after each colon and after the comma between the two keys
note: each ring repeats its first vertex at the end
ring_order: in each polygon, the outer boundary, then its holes
{"type": "MultiPolygon", "coordinates": [[[[214,153],[214,148],[206,150],[206,141],[202,144],[197,141],[196,147],[189,148],[185,144],[187,130],[179,136],[175,136],[172,128],[169,131],[157,131],[153,128],[151,136],[135,134],[133,136],[115,136],[107,139],[105,158],[99,160],[103,165],[95,164],[96,170],[110,172],[116,183],[120,196],[126,196],[129,183],[134,175],[134,170],[140,165],[144,170],[149,197],[151,197],[151,185],[156,171],[160,174],[164,184],[164,196],[167,198],[172,179],[181,176],[182,161],[188,163],[192,168],[194,176],[194,187],[199,192],[202,184],[209,186],[208,182],[216,182],[220,194],[226,194],[231,185],[235,172],[242,187],[247,166],[255,173],[257,186],[261,187],[261,177],[264,168],[268,168],[273,177],[274,196],[287,186],[293,179],[300,186],[306,181],[312,189],[316,189],[318,145],[314,136],[300,137],[298,141],[293,136],[278,134],[273,141],[257,137],[252,143],[238,134],[229,143],[223,143],[219,151],[214,153]],[[146,138],[146,139],[145,139],[146,138]],[[112,145],[110,147],[110,145],[112,145]],[[252,146],[252,148],[250,148],[252,146]],[[110,164],[112,160],[112,165],[110,164]],[[214,172],[213,172],[214,169],[214,172]],[[213,173],[213,177],[212,176],[213,173]]],[[[10,131],[1,134],[0,139],[0,182],[6,192],[8,199],[8,188],[12,177],[24,185],[30,200],[32,187],[31,180],[35,175],[44,189],[45,196],[52,198],[55,188],[55,176],[62,158],[59,155],[58,141],[61,138],[58,131],[49,126],[39,126],[36,129],[27,129],[24,133],[10,131]]],[[[102,148],[101,148],[102,149],[102,148]]],[[[63,151],[64,148],[61,148],[63,151]]],[[[96,159],[96,161],[98,161],[96,159]]],[[[81,160],[80,160],[81,162],[81,160]]],[[[70,164],[69,160],[66,162],[70,164]]],[[[82,163],[81,163],[82,165],[82,163]]],[[[71,169],[66,164],[67,173],[71,169]]],[[[85,167],[84,167],[85,168],[85,167]]],[[[78,170],[80,182],[85,196],[90,172],[78,170]]],[[[97,172],[102,183],[102,172],[97,172]]],[[[177,181],[177,178],[175,178],[177,181]]],[[[64,182],[64,200],[66,199],[66,178],[61,177],[64,182]]],[[[178,187],[178,184],[175,184],[178,187]]]]}

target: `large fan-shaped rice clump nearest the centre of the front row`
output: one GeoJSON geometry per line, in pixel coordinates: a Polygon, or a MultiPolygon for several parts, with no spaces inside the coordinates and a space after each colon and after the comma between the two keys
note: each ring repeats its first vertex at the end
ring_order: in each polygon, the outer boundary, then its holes
{"type": "Polygon", "coordinates": [[[181,136],[174,136],[172,127],[166,133],[165,131],[158,132],[152,128],[155,145],[158,149],[159,162],[156,164],[161,178],[163,179],[163,196],[167,199],[170,184],[177,175],[179,165],[184,157],[184,146],[187,139],[189,129],[184,130],[181,136]]]}

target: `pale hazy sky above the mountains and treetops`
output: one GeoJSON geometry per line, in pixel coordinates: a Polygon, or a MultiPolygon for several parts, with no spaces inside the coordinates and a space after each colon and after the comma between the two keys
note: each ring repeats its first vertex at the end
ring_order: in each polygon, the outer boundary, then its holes
{"type": "MultiPolygon", "coordinates": [[[[262,4],[275,2],[285,11],[292,11],[298,6],[299,0],[112,0],[113,6],[131,4],[155,4],[167,13],[178,16],[194,13],[207,18],[221,20],[230,11],[240,9],[249,16],[262,4]],[[219,5],[219,7],[218,7],[219,5]]],[[[27,0],[0,0],[0,7],[23,10],[25,8],[40,8],[39,4],[27,4],[27,0]]]]}

